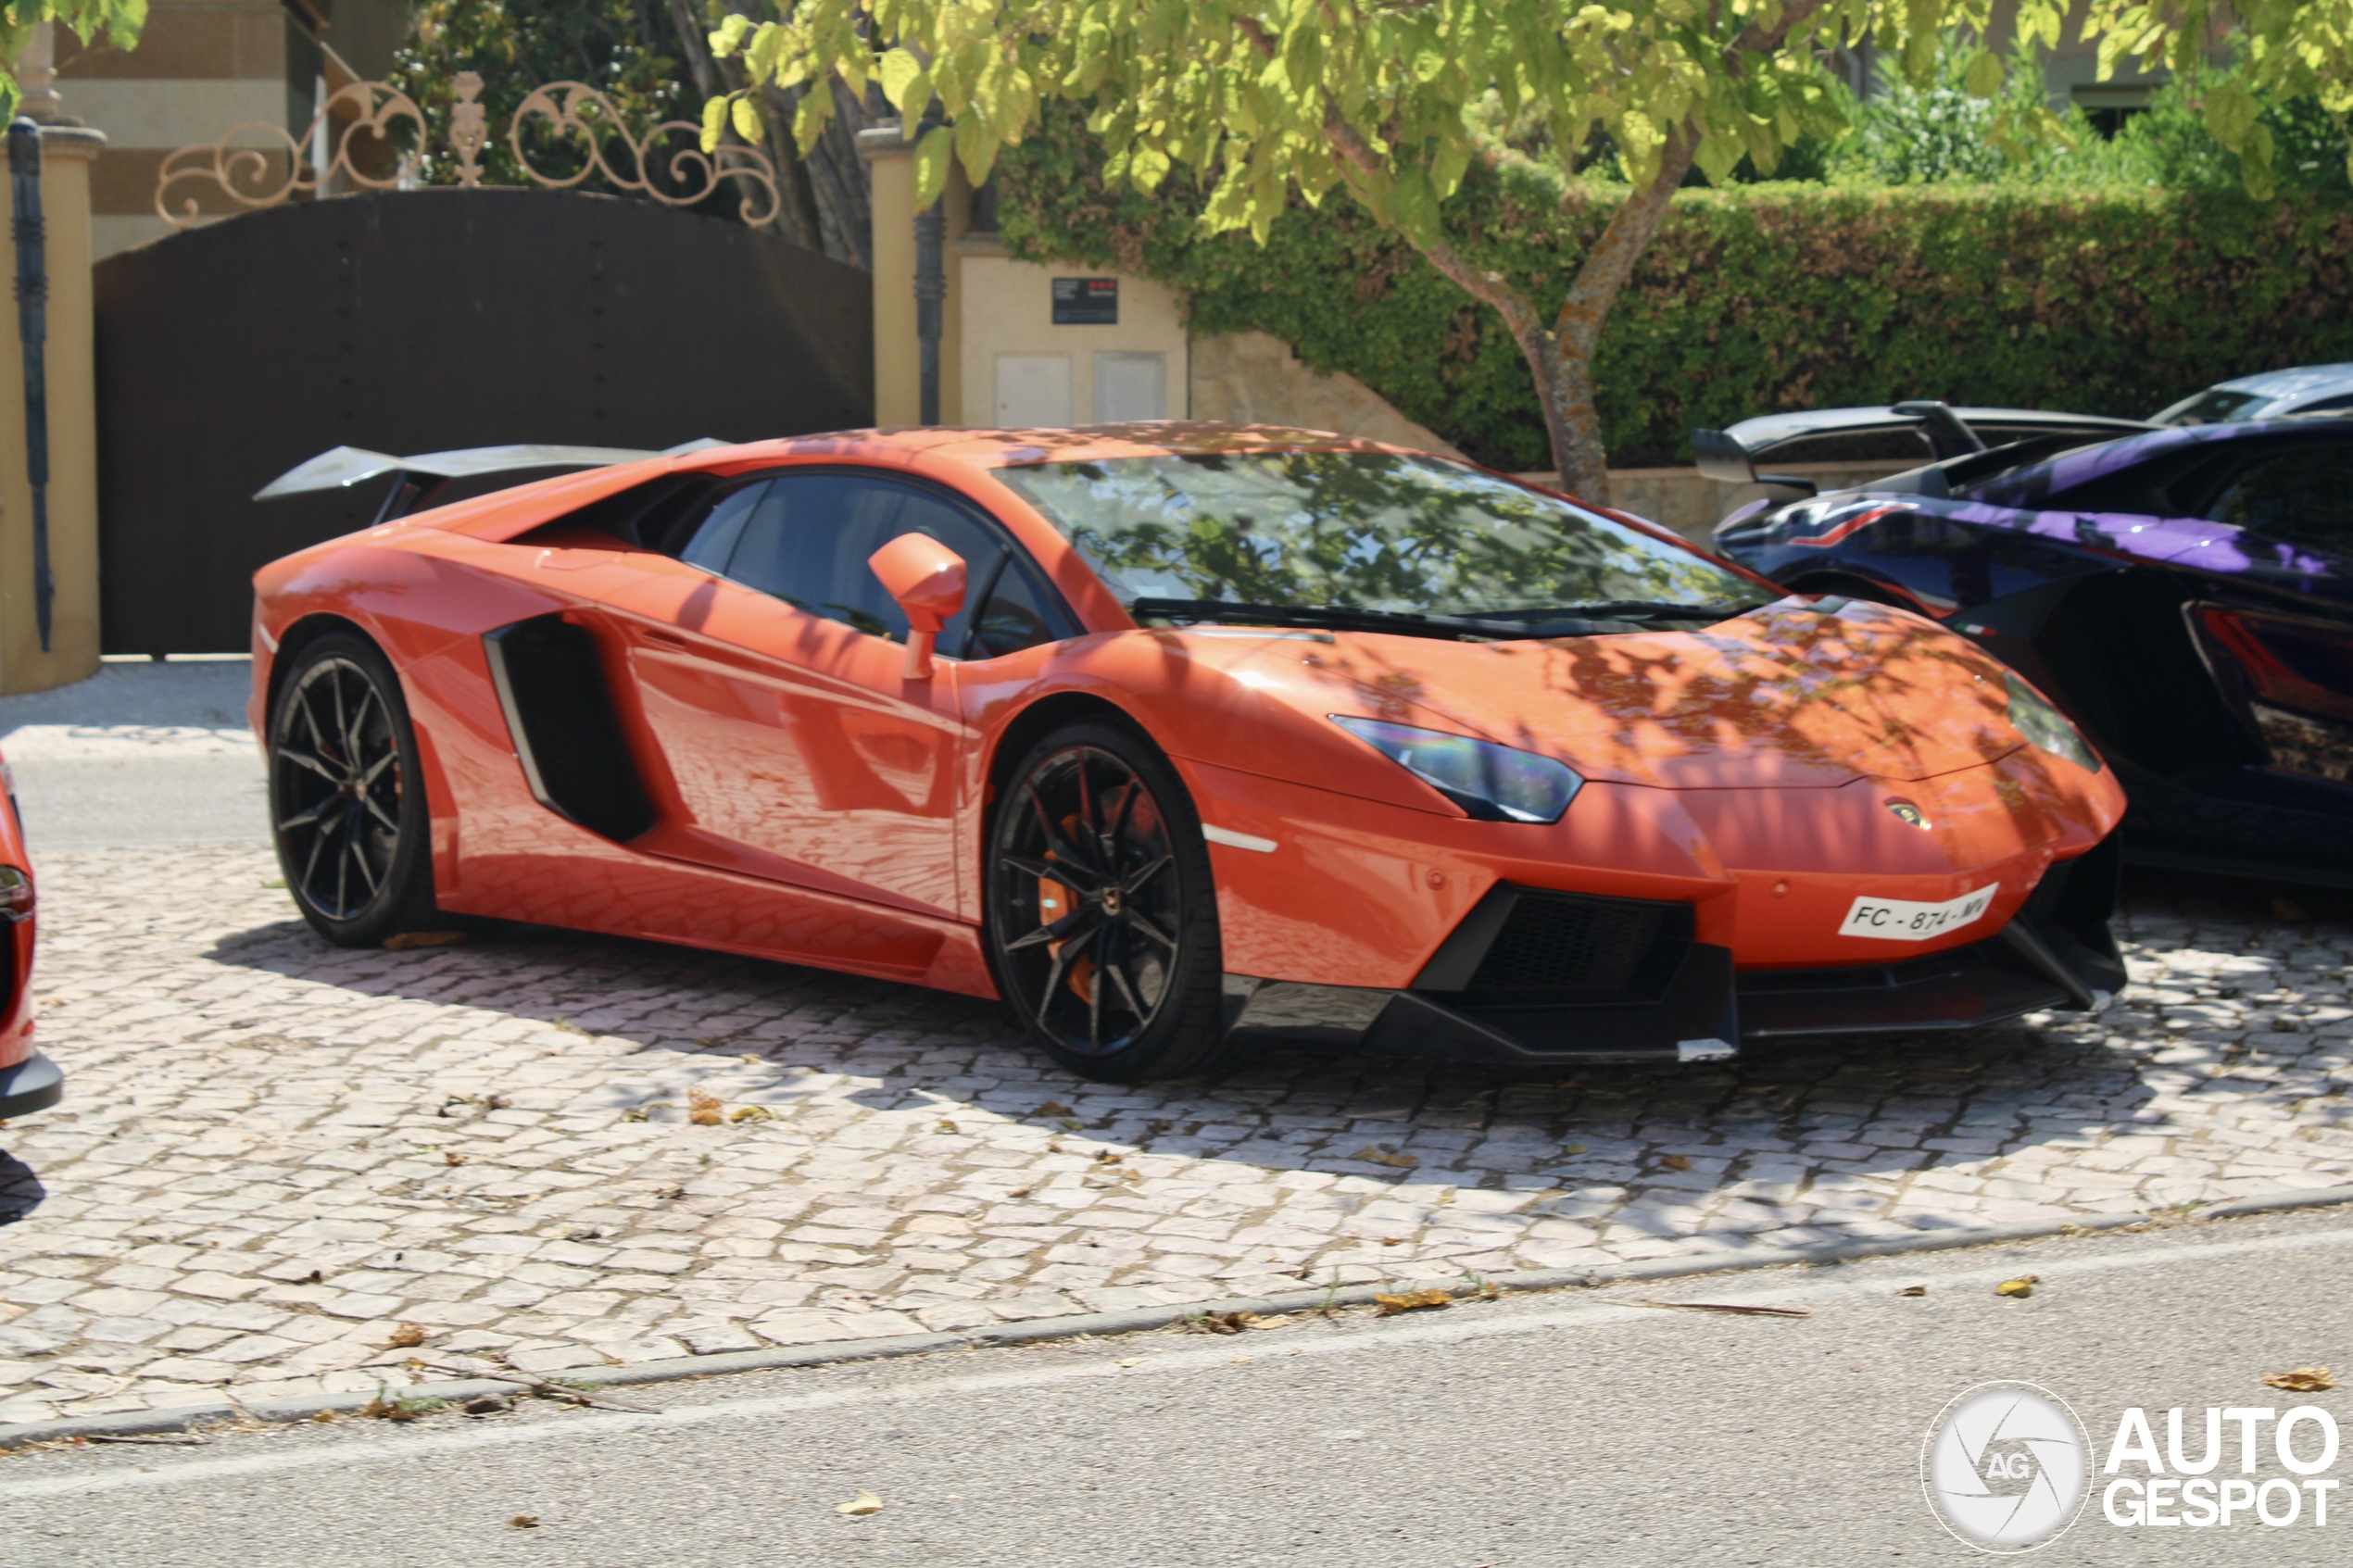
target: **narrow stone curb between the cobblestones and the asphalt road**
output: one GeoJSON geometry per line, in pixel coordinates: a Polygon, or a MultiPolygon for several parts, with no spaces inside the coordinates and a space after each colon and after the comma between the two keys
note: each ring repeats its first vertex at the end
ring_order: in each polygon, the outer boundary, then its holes
{"type": "MultiPolygon", "coordinates": [[[[2353,1204],[2348,1187],[2292,1187],[2261,1192],[2245,1199],[2209,1204],[2191,1213],[2195,1220],[2233,1220],[2242,1215],[2280,1213],[2292,1208],[2329,1208],[2353,1204]]],[[[1515,1274],[1487,1274],[1499,1291],[1574,1291],[1649,1279],[1687,1279],[1694,1274],[1729,1274],[1746,1269],[1779,1269],[1826,1262],[1859,1262],[1864,1258],[1894,1258],[1901,1253],[1941,1253],[1965,1246],[1991,1246],[2000,1241],[2042,1241],[2047,1237],[2071,1237],[2099,1229],[2122,1229],[2146,1225],[2148,1213],[2085,1215],[2080,1220],[2028,1220],[2019,1225],[1972,1225],[1953,1229],[1929,1229],[1913,1237],[1887,1237],[1880,1241],[1845,1241],[1835,1246],[1774,1246],[1746,1253],[1697,1253],[1680,1258],[1654,1258],[1649,1262],[1626,1262],[1607,1269],[1520,1269],[1515,1274]]],[[[1461,1286],[1454,1286],[1461,1291],[1461,1286]]],[[[995,1349],[1005,1345],[1038,1345],[1045,1340],[1111,1338],[1122,1333],[1148,1333],[1167,1328],[1200,1312],[1306,1312],[1322,1305],[1369,1307],[1381,1286],[1346,1286],[1341,1291],[1285,1291],[1282,1295],[1259,1295],[1217,1302],[1188,1302],[1181,1307],[1136,1307],[1129,1312],[1075,1312],[1071,1316],[1040,1316],[995,1328],[972,1328],[955,1333],[904,1333],[880,1340],[840,1340],[828,1345],[800,1345],[788,1349],[736,1349],[713,1356],[673,1356],[668,1361],[638,1361],[635,1366],[584,1366],[555,1373],[584,1387],[628,1387],[635,1382],[675,1382],[682,1378],[725,1378],[732,1373],[769,1373],[795,1366],[838,1366],[842,1361],[880,1361],[885,1356],[929,1356],[946,1349],[995,1349]]],[[[424,1399],[466,1401],[485,1394],[518,1394],[527,1385],[501,1378],[454,1378],[449,1382],[419,1382],[398,1389],[424,1399]]],[[[80,1436],[153,1436],[186,1432],[216,1422],[235,1422],[252,1415],[261,1422],[299,1422],[327,1410],[358,1410],[376,1392],[367,1394],[308,1394],[304,1399],[261,1399],[233,1406],[226,1399],[214,1403],[169,1406],[162,1410],[125,1410],[120,1415],[85,1415],[61,1420],[21,1422],[0,1427],[0,1448],[26,1443],[54,1443],[80,1436]]]]}

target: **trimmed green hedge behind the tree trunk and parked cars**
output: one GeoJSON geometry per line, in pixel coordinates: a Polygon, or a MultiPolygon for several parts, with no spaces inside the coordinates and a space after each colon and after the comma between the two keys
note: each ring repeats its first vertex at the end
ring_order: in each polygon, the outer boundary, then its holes
{"type": "MultiPolygon", "coordinates": [[[[1193,329],[1268,331],[1506,470],[1551,468],[1537,395],[1492,310],[1346,195],[1297,207],[1266,249],[1200,237],[1198,188],[1106,193],[1059,125],[998,165],[1007,247],[1186,289],[1193,329]]],[[[1548,308],[1624,188],[1522,160],[1475,167],[1457,244],[1548,308]]],[[[2231,193],[1682,190],[1602,331],[1614,468],[1689,461],[1692,425],[1901,397],[2146,416],[2207,383],[2353,360],[2353,207],[2231,193]]]]}

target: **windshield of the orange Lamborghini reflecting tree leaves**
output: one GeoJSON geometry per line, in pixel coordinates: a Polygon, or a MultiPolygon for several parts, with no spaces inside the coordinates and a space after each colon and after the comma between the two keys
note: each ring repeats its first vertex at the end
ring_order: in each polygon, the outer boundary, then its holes
{"type": "Polygon", "coordinates": [[[1445,458],[1186,454],[995,477],[1139,618],[1209,618],[1212,602],[1461,621],[1708,618],[1694,611],[1772,599],[1697,550],[1445,458]]]}

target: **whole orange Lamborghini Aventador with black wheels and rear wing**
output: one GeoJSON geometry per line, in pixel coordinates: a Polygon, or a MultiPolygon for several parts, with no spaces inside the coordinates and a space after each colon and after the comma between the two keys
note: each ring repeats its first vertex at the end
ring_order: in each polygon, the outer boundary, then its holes
{"type": "Polygon", "coordinates": [[[461,912],[845,969],[1115,1081],[2122,985],[2125,799],[2033,686],[1607,508],[1233,425],[518,451],[600,465],[256,576],[278,853],[334,943],[461,912]]]}

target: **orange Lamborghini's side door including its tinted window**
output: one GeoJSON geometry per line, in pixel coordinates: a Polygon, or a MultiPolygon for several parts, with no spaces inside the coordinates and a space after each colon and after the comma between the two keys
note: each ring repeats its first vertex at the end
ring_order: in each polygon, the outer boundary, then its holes
{"type": "Polygon", "coordinates": [[[866,557],[901,534],[965,557],[974,604],[1009,548],[969,503],[873,470],[788,470],[722,494],[692,576],[621,595],[628,663],[678,795],[645,849],[955,914],[955,663],[904,675],[906,616],[866,557]],[[708,574],[708,576],[704,576],[708,574]]]}

